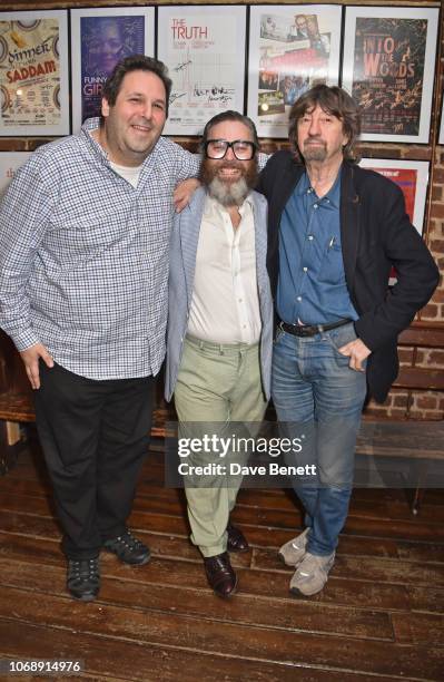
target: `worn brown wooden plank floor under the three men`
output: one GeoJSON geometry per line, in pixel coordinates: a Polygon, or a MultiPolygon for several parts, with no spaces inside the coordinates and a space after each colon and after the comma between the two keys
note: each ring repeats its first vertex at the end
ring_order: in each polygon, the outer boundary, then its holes
{"type": "Polygon", "coordinates": [[[0,479],[0,659],[82,659],[80,679],[95,680],[444,680],[444,491],[427,493],[418,518],[401,490],[356,491],[332,577],[303,600],[276,557],[300,510],[289,493],[244,490],[234,520],[253,551],[233,557],[239,591],[224,602],[187,539],[181,493],[161,477],[157,451],[130,519],[154,558],[131,568],[103,555],[89,604],[65,591],[40,456],[0,479]]]}

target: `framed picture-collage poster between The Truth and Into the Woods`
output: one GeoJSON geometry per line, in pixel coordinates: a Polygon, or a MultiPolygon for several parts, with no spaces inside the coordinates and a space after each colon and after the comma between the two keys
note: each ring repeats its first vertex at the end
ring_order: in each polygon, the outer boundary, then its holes
{"type": "Polygon", "coordinates": [[[250,8],[248,116],[260,136],[287,137],[288,111],[318,82],[337,85],[342,8],[250,8]]]}

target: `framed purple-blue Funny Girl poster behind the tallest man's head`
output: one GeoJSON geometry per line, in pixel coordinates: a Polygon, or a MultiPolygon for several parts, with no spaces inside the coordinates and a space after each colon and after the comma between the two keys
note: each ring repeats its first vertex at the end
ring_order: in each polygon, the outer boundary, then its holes
{"type": "Polygon", "coordinates": [[[71,10],[72,127],[100,115],[103,84],[130,55],[154,56],[152,7],[71,10]]]}

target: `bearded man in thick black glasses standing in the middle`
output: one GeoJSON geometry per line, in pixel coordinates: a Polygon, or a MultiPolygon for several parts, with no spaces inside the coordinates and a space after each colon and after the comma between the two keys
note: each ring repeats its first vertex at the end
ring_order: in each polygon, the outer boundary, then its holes
{"type": "MultiPolygon", "coordinates": [[[[165,393],[167,400],[175,394],[180,437],[203,438],[211,429],[230,436],[234,422],[258,422],[267,406],[273,303],[267,203],[251,191],[257,148],[255,125],[246,116],[226,111],[211,118],[201,140],[203,186],[175,218],[165,393]]],[[[220,461],[215,451],[188,460],[220,461]]],[[[228,552],[248,551],[229,523],[239,485],[239,478],[216,475],[185,486],[191,542],[221,597],[233,595],[237,584],[228,552]]]]}

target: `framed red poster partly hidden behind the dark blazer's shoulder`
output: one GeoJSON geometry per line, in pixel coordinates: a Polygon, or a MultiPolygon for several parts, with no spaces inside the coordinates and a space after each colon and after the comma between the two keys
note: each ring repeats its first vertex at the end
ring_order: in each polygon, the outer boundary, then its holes
{"type": "Polygon", "coordinates": [[[363,168],[372,168],[401,187],[411,223],[423,234],[425,199],[428,185],[428,162],[394,158],[363,158],[363,168]]]}

